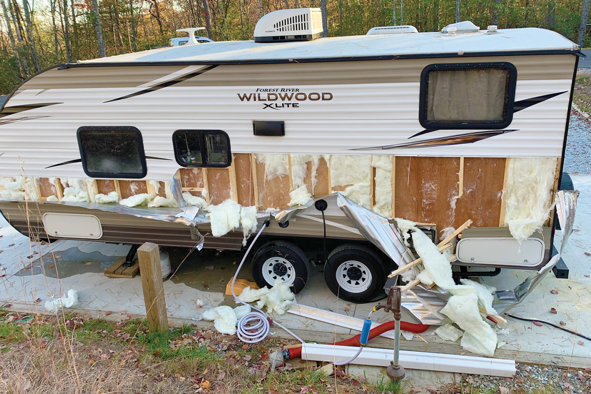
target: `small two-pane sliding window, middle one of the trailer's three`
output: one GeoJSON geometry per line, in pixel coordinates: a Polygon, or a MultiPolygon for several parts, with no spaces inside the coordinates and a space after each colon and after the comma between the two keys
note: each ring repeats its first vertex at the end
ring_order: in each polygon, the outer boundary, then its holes
{"type": "Polygon", "coordinates": [[[174,156],[183,167],[228,167],[230,139],[220,130],[177,130],[174,156]]]}

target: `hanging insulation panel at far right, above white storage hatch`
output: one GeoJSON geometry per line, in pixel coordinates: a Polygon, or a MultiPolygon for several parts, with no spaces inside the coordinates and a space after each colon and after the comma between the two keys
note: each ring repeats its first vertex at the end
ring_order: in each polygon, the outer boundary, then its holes
{"type": "Polygon", "coordinates": [[[550,217],[556,158],[512,158],[505,194],[505,224],[519,243],[550,217]]]}

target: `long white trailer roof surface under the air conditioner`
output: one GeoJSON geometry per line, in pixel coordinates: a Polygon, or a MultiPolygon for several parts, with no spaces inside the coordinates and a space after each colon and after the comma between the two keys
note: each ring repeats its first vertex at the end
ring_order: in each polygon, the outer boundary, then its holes
{"type": "Polygon", "coordinates": [[[85,60],[80,61],[79,64],[280,63],[296,60],[352,60],[373,57],[430,57],[543,51],[573,51],[574,53],[578,50],[577,44],[557,32],[541,28],[519,28],[501,29],[498,30],[498,34],[486,34],[485,30],[481,30],[457,35],[441,32],[354,35],[287,43],[218,41],[85,60]]]}

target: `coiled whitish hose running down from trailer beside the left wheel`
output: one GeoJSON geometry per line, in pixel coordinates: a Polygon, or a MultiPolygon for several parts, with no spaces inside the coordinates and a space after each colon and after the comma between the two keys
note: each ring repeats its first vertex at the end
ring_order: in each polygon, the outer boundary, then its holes
{"type": "MultiPolygon", "coordinates": [[[[248,253],[251,251],[252,246],[255,245],[256,240],[258,239],[258,237],[262,233],[262,230],[264,230],[265,227],[267,227],[268,225],[269,225],[269,222],[265,222],[262,225],[261,229],[259,230],[259,232],[256,234],[256,236],[252,240],[251,245],[249,245],[248,249],[246,249],[246,253],[244,253],[244,257],[242,258],[240,265],[238,265],[238,269],[236,269],[236,273],[234,273],[234,276],[232,278],[232,284],[230,285],[230,290],[232,291],[232,296],[234,297],[236,302],[239,302],[242,305],[248,305],[249,307],[251,307],[255,310],[254,312],[250,312],[250,313],[242,316],[238,320],[238,328],[236,329],[236,334],[238,334],[238,338],[240,338],[240,340],[245,343],[258,343],[258,342],[264,340],[265,338],[267,338],[267,336],[269,334],[269,330],[271,329],[270,324],[269,324],[269,320],[267,318],[267,314],[265,312],[263,312],[259,308],[253,307],[252,305],[250,305],[246,302],[243,302],[240,298],[236,297],[236,294],[234,293],[234,282],[236,282],[236,277],[238,276],[238,272],[240,272],[242,265],[246,261],[246,257],[248,256],[248,253]]],[[[283,328],[285,331],[287,331],[287,333],[289,333],[291,336],[296,338],[301,343],[304,343],[304,340],[302,338],[298,337],[296,334],[291,332],[284,325],[278,323],[277,321],[275,321],[275,324],[277,324],[279,327],[283,328]]]]}

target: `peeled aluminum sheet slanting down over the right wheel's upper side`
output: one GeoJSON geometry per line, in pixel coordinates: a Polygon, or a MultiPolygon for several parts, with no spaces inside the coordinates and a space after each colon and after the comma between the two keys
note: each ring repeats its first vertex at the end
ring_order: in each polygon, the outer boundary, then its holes
{"type": "Polygon", "coordinates": [[[405,265],[414,260],[413,253],[404,245],[398,230],[388,219],[353,203],[340,193],[337,193],[336,203],[361,235],[386,253],[392,261],[405,265]]]}

